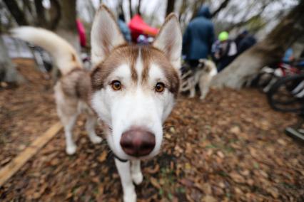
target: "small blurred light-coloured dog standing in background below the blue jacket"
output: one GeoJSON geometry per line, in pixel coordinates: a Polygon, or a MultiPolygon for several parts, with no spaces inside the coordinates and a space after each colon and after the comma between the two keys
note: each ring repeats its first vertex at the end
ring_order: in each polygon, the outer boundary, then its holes
{"type": "Polygon", "coordinates": [[[181,92],[190,90],[189,97],[195,97],[196,85],[198,85],[201,90],[200,99],[203,100],[209,91],[212,78],[218,71],[211,60],[200,59],[198,62],[196,68],[192,68],[187,64],[183,67],[181,92]]]}

